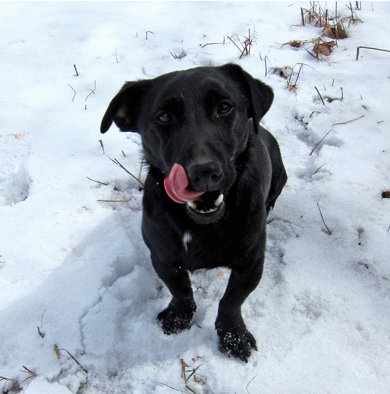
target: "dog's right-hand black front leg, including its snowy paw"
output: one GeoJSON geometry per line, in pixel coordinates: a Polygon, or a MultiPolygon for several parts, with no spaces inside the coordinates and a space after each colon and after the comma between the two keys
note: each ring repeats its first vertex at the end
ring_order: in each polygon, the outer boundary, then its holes
{"type": "Polygon", "coordinates": [[[252,348],[257,350],[257,347],[254,336],[248,331],[242,318],[241,305],[260,282],[263,262],[264,258],[256,261],[251,267],[232,269],[215,320],[219,350],[245,362],[248,362],[252,348]]]}

